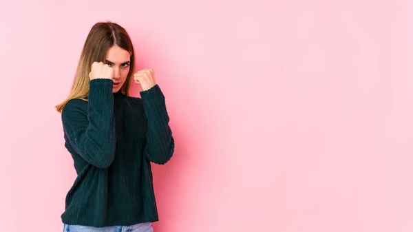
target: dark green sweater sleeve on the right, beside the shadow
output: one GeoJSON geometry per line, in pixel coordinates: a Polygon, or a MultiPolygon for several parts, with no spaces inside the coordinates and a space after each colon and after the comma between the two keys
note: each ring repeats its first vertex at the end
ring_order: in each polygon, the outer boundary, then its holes
{"type": "Polygon", "coordinates": [[[147,118],[147,144],[145,156],[151,162],[163,165],[171,159],[175,149],[165,96],[159,85],[140,92],[147,118]]]}

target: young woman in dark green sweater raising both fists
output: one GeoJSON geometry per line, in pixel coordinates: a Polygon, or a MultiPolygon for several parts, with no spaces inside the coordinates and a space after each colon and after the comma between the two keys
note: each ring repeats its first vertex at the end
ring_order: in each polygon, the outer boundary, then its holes
{"type": "Polygon", "coordinates": [[[175,143],[153,70],[134,72],[134,65],[126,30],[96,23],[72,90],[56,106],[77,173],[61,215],[64,231],[152,231],[158,221],[151,162],[169,161],[175,143]],[[140,98],[129,96],[131,78],[140,98]]]}

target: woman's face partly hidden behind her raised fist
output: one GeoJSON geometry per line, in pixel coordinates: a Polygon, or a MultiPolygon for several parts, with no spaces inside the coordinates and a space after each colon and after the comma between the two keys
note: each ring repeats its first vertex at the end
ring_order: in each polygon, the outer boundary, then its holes
{"type": "Polygon", "coordinates": [[[114,45],[107,51],[105,63],[114,70],[114,77],[112,78],[114,88],[112,92],[116,93],[126,81],[131,63],[131,54],[127,50],[114,45]]]}

